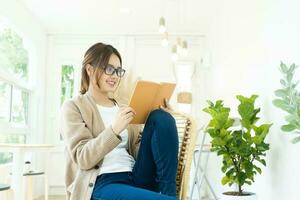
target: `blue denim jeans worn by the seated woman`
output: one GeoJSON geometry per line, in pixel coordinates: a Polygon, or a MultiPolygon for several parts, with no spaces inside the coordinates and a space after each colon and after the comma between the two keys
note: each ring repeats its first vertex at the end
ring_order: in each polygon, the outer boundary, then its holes
{"type": "Polygon", "coordinates": [[[97,177],[91,200],[176,200],[178,133],[169,113],[149,114],[132,172],[97,177]]]}

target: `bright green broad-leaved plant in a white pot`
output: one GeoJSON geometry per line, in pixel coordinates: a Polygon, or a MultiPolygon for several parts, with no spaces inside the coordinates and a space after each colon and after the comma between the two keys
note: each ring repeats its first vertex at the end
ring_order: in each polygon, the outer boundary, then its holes
{"type": "Polygon", "coordinates": [[[223,157],[222,184],[236,185],[237,191],[224,192],[222,200],[255,200],[254,193],[243,190],[245,184],[251,185],[254,176],[261,174],[258,164],[266,166],[264,157],[269,150],[265,138],[272,124],[257,125],[257,114],[260,108],[255,108],[254,103],[258,96],[250,98],[237,96],[240,101],[238,112],[240,115],[239,126],[235,127],[233,118],[229,117],[230,108],[224,107],[223,101],[215,103],[208,101],[209,106],[203,111],[212,117],[206,131],[211,136],[212,151],[223,157]]]}

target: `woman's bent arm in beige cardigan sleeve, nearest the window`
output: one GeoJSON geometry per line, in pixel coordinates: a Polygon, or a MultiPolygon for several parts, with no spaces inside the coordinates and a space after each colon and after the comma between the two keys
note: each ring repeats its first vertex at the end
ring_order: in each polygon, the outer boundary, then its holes
{"type": "Polygon", "coordinates": [[[83,170],[93,168],[121,142],[110,127],[94,138],[73,101],[63,104],[60,123],[68,153],[73,162],[83,170]]]}

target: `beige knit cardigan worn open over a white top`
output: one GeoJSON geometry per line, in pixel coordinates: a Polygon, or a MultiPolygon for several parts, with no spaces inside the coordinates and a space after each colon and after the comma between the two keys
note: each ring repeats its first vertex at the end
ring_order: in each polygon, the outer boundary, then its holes
{"type": "MultiPolygon", "coordinates": [[[[122,105],[124,103],[117,102],[122,105]]],[[[136,158],[141,126],[129,125],[128,152],[136,158]]],[[[65,184],[68,200],[90,200],[104,156],[120,142],[105,127],[89,93],[66,101],[61,110],[60,133],[65,142],[65,184]]],[[[55,164],[55,163],[53,163],[55,164]]]]}

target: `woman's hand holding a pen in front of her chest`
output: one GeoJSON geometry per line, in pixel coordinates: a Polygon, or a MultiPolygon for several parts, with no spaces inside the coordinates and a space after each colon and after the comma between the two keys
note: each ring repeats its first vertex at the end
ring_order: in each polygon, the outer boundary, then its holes
{"type": "Polygon", "coordinates": [[[120,107],[117,112],[115,121],[113,122],[111,128],[116,134],[120,134],[124,129],[127,128],[128,124],[131,122],[136,112],[129,106],[120,107]]]}

